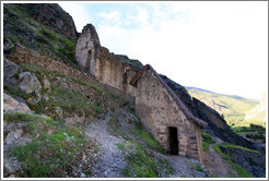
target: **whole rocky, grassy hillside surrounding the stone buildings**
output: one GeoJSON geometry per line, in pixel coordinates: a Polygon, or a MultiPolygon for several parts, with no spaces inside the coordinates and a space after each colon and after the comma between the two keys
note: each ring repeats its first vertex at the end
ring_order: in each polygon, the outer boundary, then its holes
{"type": "MultiPolygon", "coordinates": [[[[202,164],[167,155],[121,92],[80,69],[79,33],[58,4],[5,3],[3,24],[5,178],[265,177],[265,147],[233,133],[218,112],[163,75],[209,124],[202,164]]],[[[116,57],[133,70],[142,65],[116,57]]]]}

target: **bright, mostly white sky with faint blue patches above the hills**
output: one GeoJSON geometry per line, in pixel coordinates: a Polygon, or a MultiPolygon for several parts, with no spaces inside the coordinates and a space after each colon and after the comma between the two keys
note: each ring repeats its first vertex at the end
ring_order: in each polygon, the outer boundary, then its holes
{"type": "Polygon", "coordinates": [[[78,32],[184,86],[259,98],[268,89],[268,2],[60,2],[78,32]]]}

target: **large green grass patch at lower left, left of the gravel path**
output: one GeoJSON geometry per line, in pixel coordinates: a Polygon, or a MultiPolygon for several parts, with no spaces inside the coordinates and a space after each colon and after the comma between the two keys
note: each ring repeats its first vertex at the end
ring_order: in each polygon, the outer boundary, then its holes
{"type": "Polygon", "coordinates": [[[71,166],[81,164],[81,152],[89,145],[83,130],[52,119],[28,121],[33,142],[9,153],[22,162],[19,177],[63,177],[71,166]]]}

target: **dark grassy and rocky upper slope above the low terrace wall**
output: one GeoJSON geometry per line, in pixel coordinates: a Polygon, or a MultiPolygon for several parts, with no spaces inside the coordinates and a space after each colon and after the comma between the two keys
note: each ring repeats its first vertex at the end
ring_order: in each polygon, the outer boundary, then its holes
{"type": "Polygon", "coordinates": [[[3,51],[14,44],[79,69],[74,59],[78,39],[72,17],[58,4],[3,5],[3,51]]]}

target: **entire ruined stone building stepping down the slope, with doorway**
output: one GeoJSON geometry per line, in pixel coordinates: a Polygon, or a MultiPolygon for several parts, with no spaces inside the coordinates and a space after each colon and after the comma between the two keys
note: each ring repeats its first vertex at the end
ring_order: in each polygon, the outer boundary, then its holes
{"type": "Polygon", "coordinates": [[[80,65],[103,84],[125,93],[136,105],[136,113],[147,130],[168,154],[202,161],[200,128],[206,128],[207,123],[191,114],[151,65],[133,71],[101,47],[93,28],[84,26],[78,40],[75,56],[80,65]]]}

